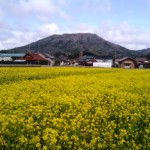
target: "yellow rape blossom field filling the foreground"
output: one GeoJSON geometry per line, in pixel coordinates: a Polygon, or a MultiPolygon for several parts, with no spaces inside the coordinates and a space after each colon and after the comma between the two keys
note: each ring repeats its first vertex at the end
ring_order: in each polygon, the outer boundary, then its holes
{"type": "Polygon", "coordinates": [[[0,68],[1,150],[149,150],[150,70],[0,68]]]}

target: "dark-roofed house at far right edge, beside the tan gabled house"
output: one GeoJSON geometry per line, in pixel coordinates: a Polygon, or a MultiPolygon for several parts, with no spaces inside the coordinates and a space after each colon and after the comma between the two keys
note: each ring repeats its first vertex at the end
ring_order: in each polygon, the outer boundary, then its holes
{"type": "Polygon", "coordinates": [[[136,58],[138,68],[150,68],[150,60],[146,57],[136,58]]]}

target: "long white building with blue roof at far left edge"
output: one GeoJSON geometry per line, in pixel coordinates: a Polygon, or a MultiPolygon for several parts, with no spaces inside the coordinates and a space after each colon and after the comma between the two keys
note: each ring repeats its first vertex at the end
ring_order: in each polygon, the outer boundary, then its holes
{"type": "Polygon", "coordinates": [[[0,61],[15,61],[23,56],[25,53],[0,53],[0,61]]]}

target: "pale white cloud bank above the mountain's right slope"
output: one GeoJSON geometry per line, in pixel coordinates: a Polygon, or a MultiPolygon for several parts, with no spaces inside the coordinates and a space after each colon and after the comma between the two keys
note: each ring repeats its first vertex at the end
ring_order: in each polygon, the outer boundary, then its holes
{"type": "Polygon", "coordinates": [[[150,31],[132,28],[127,22],[122,22],[119,25],[105,22],[95,32],[104,39],[131,50],[150,47],[150,31]]]}

